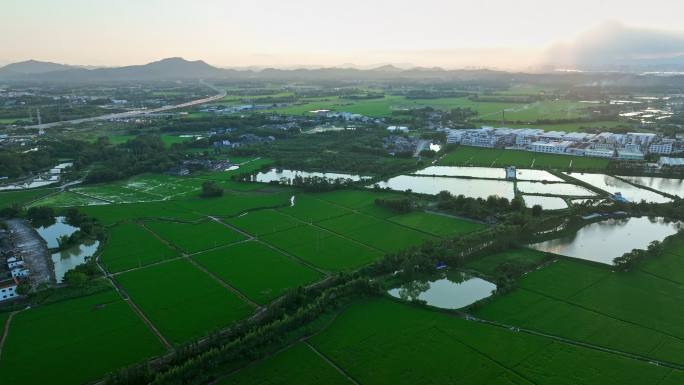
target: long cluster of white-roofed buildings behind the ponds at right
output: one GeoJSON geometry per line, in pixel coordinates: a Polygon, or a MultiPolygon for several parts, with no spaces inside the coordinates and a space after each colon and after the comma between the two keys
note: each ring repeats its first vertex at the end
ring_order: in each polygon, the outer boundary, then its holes
{"type": "Polygon", "coordinates": [[[653,133],[545,131],[536,128],[446,130],[447,143],[490,148],[515,148],[548,154],[566,154],[643,160],[646,154],[669,155],[684,151],[684,141],[653,133]]]}

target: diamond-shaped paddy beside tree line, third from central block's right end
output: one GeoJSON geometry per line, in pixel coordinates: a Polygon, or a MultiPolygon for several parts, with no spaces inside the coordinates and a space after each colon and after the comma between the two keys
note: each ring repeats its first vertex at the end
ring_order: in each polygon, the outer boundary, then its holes
{"type": "Polygon", "coordinates": [[[321,269],[352,270],[382,257],[382,252],[328,231],[306,225],[262,238],[321,269]]]}

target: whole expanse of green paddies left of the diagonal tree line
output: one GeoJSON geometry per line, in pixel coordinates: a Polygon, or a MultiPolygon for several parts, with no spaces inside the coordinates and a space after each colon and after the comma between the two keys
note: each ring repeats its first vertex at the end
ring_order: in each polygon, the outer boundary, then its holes
{"type": "MultiPolygon", "coordinates": [[[[0,375],[5,378],[12,368],[30,365],[31,370],[22,371],[21,383],[43,384],[46,376],[56,378],[55,384],[93,381],[228,327],[297,286],[354,270],[391,250],[483,228],[431,213],[397,215],[374,203],[394,195],[388,192],[304,194],[262,184],[209,199],[194,192],[203,180],[147,175],[102,184],[97,189],[113,197],[108,199],[112,202],[124,201],[116,194],[128,194],[122,191],[125,185],[159,192],[169,181],[191,193],[159,201],[75,206],[107,226],[97,257],[120,292],[17,313],[0,357],[0,375]],[[40,330],[28,332],[34,329],[40,330]],[[48,342],[56,345],[43,350],[48,342]],[[48,351],[64,354],[55,359],[48,351]],[[98,363],[74,371],[69,363],[82,362],[74,358],[79,356],[98,363]]],[[[6,318],[0,313],[0,320],[6,318]]]]}

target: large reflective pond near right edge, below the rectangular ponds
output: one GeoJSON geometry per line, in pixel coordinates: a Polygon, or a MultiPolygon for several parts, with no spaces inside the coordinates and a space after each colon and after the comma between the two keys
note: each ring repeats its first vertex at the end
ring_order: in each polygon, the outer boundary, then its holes
{"type": "Polygon", "coordinates": [[[575,234],[531,245],[532,248],[568,257],[612,264],[633,249],[646,249],[652,241],[675,234],[682,224],[662,218],[607,219],[582,227],[575,234]]]}

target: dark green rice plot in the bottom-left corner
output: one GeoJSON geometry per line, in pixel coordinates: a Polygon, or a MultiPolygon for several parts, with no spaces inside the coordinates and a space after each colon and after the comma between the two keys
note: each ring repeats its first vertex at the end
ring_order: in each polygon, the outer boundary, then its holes
{"type": "Polygon", "coordinates": [[[163,352],[152,331],[110,290],[17,313],[0,359],[0,382],[90,383],[163,352]]]}

